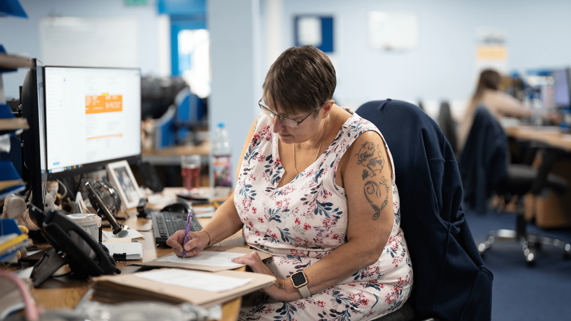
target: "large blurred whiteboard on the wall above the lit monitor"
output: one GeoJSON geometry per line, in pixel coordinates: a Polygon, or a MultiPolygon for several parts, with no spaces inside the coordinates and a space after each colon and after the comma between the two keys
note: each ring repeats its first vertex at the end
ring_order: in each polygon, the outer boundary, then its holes
{"type": "Polygon", "coordinates": [[[46,17],[39,19],[44,65],[139,67],[136,17],[46,17]]]}

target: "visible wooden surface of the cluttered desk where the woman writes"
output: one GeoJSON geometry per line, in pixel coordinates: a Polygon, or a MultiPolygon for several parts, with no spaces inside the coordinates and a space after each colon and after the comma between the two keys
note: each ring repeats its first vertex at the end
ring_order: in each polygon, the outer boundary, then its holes
{"type": "MultiPolygon", "coordinates": [[[[163,191],[163,196],[166,199],[175,199],[176,193],[182,191],[182,187],[167,187],[163,191]]],[[[164,202],[162,204],[154,204],[152,208],[162,208],[169,202],[164,202]]],[[[143,259],[142,260],[128,260],[117,262],[117,267],[122,270],[123,272],[129,273],[136,268],[135,266],[128,266],[128,264],[134,262],[147,262],[149,260],[153,260],[159,258],[160,256],[167,255],[172,253],[172,249],[170,247],[156,247],[155,243],[155,235],[152,231],[152,220],[151,219],[144,219],[144,218],[137,218],[136,217],[136,208],[132,208],[127,212],[129,217],[124,220],[123,224],[126,224],[129,228],[135,228],[139,230],[141,234],[144,236],[144,240],[142,238],[136,239],[139,243],[143,244],[143,259]]],[[[199,218],[198,219],[200,224],[204,226],[206,223],[210,221],[210,218],[199,218]]],[[[110,228],[106,228],[106,230],[111,230],[110,228]]],[[[242,231],[237,232],[236,234],[230,236],[223,240],[222,245],[224,246],[245,246],[246,243],[242,238],[242,231]]],[[[40,244],[39,248],[46,248],[49,247],[48,244],[40,244]]],[[[61,274],[62,272],[67,272],[69,269],[63,270],[67,267],[60,269],[61,271],[56,272],[56,274],[61,274]]],[[[246,271],[245,267],[241,267],[237,269],[238,271],[246,271]]],[[[89,282],[86,280],[73,280],[67,277],[61,278],[51,278],[44,283],[41,288],[31,288],[32,296],[34,300],[39,305],[46,307],[46,308],[58,308],[58,307],[68,307],[74,308],[78,303],[82,296],[89,290],[89,282]]],[[[238,317],[238,312],[240,310],[240,304],[242,303],[241,298],[237,298],[231,300],[230,302],[224,303],[222,306],[222,319],[224,321],[231,321],[236,320],[238,317]]]]}

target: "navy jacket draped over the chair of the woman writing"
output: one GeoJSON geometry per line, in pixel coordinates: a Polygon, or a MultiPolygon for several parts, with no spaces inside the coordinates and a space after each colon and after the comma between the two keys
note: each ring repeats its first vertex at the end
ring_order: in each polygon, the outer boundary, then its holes
{"type": "Polygon", "coordinates": [[[413,268],[408,299],[419,319],[490,320],[492,273],[484,267],[461,207],[456,158],[444,134],[411,103],[373,101],[356,113],[391,150],[413,268]]]}

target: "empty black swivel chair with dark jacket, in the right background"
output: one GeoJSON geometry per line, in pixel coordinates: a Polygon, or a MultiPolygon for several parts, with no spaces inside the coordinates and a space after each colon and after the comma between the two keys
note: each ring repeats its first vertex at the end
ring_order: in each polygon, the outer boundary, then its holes
{"type": "Polygon", "coordinates": [[[542,244],[560,247],[564,250],[564,258],[571,258],[569,243],[526,232],[522,200],[526,193],[538,195],[544,188],[551,188],[559,194],[565,194],[569,190],[569,184],[564,178],[550,174],[557,155],[565,151],[544,145],[543,161],[536,170],[528,164],[507,164],[507,141],[506,134],[496,118],[485,106],[479,106],[459,165],[464,190],[473,191],[467,193],[467,203],[481,208],[485,206],[482,203],[485,198],[495,192],[497,195],[503,195],[506,202],[516,195],[518,209],[516,229],[490,231],[484,242],[478,244],[478,252],[483,255],[496,240],[516,240],[520,242],[525,260],[530,265],[534,264],[536,250],[542,244]]]}

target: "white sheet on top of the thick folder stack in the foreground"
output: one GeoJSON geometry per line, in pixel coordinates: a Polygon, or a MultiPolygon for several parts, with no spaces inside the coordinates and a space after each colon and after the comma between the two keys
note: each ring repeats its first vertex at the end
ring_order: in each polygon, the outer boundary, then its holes
{"type": "Polygon", "coordinates": [[[165,268],[156,271],[135,273],[138,278],[172,286],[192,288],[208,292],[223,292],[244,286],[254,278],[240,279],[212,273],[165,268]]]}

